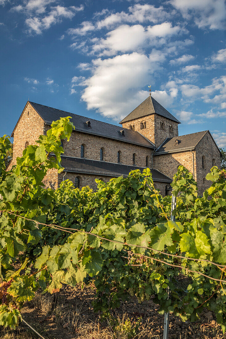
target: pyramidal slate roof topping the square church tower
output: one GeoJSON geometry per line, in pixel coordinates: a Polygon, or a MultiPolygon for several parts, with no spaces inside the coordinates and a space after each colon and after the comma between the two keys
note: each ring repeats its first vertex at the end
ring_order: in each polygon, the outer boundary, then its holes
{"type": "Polygon", "coordinates": [[[143,101],[138,107],[136,107],[129,115],[127,115],[121,122],[127,122],[137,118],[145,117],[150,114],[158,114],[167,119],[176,121],[180,124],[180,121],[177,120],[172,114],[170,114],[166,108],[160,105],[153,97],[149,95],[145,101],[143,101]]]}

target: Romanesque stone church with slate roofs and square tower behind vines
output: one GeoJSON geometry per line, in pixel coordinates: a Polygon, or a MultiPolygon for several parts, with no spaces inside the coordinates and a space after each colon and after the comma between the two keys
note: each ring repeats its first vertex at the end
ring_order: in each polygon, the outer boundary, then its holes
{"type": "Polygon", "coordinates": [[[28,101],[11,135],[13,158],[8,168],[54,120],[67,116],[75,129],[69,142],[62,140],[64,170],[60,174],[50,170],[44,179],[46,186],[57,188],[62,180],[70,179],[75,187],[89,185],[95,190],[96,178],[107,182],[149,167],[155,187],[165,195],[178,166],[183,165],[202,194],[210,185],[205,179],[210,168],[220,168],[221,153],[210,132],[178,136],[180,121],[151,95],[120,122],[121,127],[28,101]]]}

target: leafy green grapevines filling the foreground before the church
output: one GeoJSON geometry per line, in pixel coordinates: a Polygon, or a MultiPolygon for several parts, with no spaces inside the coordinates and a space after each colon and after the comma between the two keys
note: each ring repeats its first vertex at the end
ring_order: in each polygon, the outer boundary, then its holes
{"type": "Polygon", "coordinates": [[[51,126],[8,172],[11,143],[0,138],[0,325],[16,328],[24,321],[21,308],[37,294],[53,295],[56,306],[65,286],[80,284],[95,287],[98,328],[115,321],[121,301],[136,297],[182,321],[194,322],[206,309],[224,333],[226,172],[214,166],[200,197],[180,166],[172,182],[176,221],[171,197],[155,190],[149,168],[96,180],[96,192],[69,180],[45,189],[47,171],[62,171],[61,139],[69,140],[74,127],[69,118],[51,126]]]}

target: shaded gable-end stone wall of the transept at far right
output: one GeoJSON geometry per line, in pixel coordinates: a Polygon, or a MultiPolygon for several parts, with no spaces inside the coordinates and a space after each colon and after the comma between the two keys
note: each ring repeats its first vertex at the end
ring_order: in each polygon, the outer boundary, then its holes
{"type": "Polygon", "coordinates": [[[197,163],[197,185],[199,194],[211,186],[211,181],[206,180],[207,173],[213,167],[213,159],[215,159],[215,166],[221,168],[220,153],[213,142],[209,132],[202,138],[202,140],[195,147],[196,163],[197,163]],[[204,168],[202,166],[202,157],[204,158],[204,168]]]}

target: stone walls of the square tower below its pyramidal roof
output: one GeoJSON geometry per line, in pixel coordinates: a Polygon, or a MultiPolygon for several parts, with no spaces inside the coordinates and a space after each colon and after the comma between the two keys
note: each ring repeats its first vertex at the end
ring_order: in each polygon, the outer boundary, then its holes
{"type": "Polygon", "coordinates": [[[178,137],[178,123],[158,114],[151,114],[122,123],[123,128],[130,128],[131,125],[134,126],[134,131],[139,132],[153,142],[155,147],[159,147],[166,138],[178,137]],[[146,123],[146,128],[140,129],[141,122],[146,123]],[[161,122],[163,123],[163,129],[161,128],[161,122]]]}

